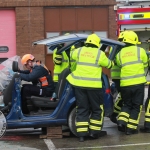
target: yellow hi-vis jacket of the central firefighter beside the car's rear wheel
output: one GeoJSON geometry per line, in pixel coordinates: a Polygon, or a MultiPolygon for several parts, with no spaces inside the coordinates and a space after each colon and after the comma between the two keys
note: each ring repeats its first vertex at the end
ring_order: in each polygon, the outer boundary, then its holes
{"type": "Polygon", "coordinates": [[[98,48],[81,47],[72,53],[76,70],[67,76],[70,84],[87,88],[102,88],[102,66],[110,68],[112,62],[98,48]]]}

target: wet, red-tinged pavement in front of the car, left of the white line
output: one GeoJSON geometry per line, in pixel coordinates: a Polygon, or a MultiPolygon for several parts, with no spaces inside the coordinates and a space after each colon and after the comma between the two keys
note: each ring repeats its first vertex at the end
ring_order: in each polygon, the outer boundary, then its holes
{"type": "Polygon", "coordinates": [[[40,130],[8,130],[0,139],[0,150],[48,150],[47,145],[39,139],[40,130]]]}

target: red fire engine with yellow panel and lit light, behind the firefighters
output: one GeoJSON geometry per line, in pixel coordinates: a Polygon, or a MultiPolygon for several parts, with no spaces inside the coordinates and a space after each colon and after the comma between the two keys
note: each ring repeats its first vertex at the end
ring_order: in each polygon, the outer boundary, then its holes
{"type": "Polygon", "coordinates": [[[133,30],[139,37],[139,46],[150,51],[150,1],[116,0],[117,35],[121,31],[133,30]]]}

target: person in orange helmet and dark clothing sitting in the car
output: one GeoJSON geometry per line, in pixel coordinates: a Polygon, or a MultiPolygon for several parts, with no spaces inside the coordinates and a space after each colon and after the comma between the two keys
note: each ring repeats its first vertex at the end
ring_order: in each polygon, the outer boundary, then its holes
{"type": "Polygon", "coordinates": [[[42,65],[36,64],[33,55],[24,55],[21,63],[28,69],[18,71],[21,80],[33,82],[33,84],[23,85],[21,90],[22,111],[27,114],[29,110],[27,108],[26,98],[31,96],[51,97],[54,91],[54,83],[49,71],[42,65]],[[40,82],[40,86],[37,86],[38,82],[40,82]]]}

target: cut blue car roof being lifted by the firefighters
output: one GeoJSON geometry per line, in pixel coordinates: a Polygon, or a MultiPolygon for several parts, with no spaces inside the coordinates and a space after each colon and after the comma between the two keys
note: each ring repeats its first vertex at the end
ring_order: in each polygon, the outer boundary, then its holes
{"type": "MultiPolygon", "coordinates": [[[[62,36],[56,36],[47,38],[44,40],[38,40],[33,42],[32,45],[46,45],[49,47],[50,50],[54,51],[55,48],[57,48],[60,44],[63,44],[64,46],[59,49],[57,52],[58,54],[66,51],[71,46],[80,44],[81,42],[85,42],[86,38],[88,37],[87,34],[69,34],[69,35],[62,35],[62,36]]],[[[100,50],[105,51],[107,47],[112,47],[112,52],[109,54],[109,59],[114,60],[116,54],[120,49],[124,46],[124,43],[107,39],[107,38],[101,38],[101,46],[100,50]]]]}

